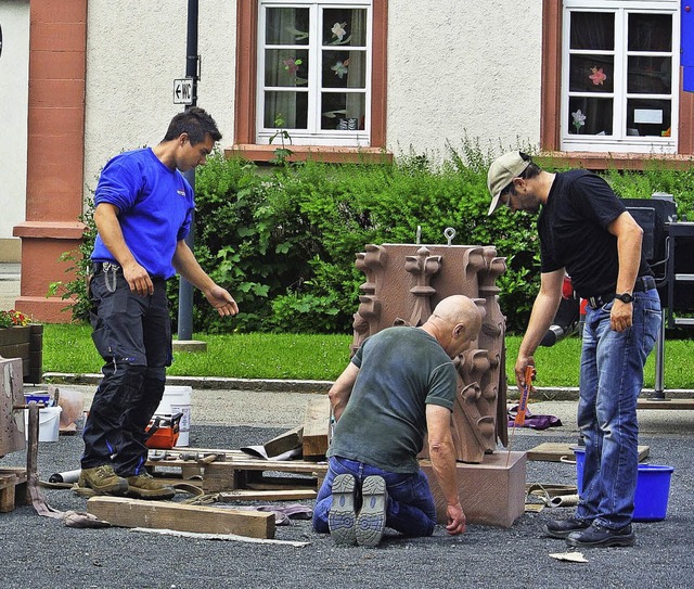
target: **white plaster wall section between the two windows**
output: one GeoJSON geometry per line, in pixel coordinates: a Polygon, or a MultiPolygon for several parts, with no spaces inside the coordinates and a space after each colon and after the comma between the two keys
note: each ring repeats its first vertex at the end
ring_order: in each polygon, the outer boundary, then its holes
{"type": "Polygon", "coordinates": [[[388,148],[537,144],[541,24],[540,0],[390,0],[388,148]]]}

